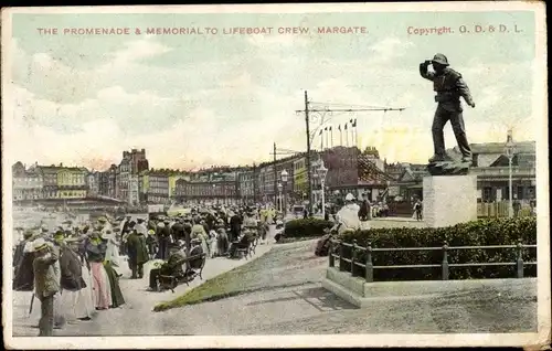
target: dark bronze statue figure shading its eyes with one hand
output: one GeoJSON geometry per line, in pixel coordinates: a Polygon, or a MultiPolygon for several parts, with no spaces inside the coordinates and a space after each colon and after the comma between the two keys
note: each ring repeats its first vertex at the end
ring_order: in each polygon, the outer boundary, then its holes
{"type": "Polygon", "coordinates": [[[454,136],[461,152],[461,161],[471,162],[471,149],[466,137],[460,96],[469,106],[476,107],[476,104],[461,74],[449,67],[448,60],[444,54],[436,54],[433,60],[421,63],[420,74],[433,82],[433,89],[436,93],[437,109],[432,126],[434,156],[429,162],[446,161],[443,128],[448,120],[450,120],[454,136]],[[427,70],[429,64],[433,65],[434,72],[427,70]]]}

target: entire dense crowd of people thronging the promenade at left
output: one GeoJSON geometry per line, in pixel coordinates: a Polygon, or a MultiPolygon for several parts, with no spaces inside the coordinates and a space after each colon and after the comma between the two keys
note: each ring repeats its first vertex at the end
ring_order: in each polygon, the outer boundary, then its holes
{"type": "Polygon", "coordinates": [[[33,292],[30,313],[40,310],[39,336],[49,337],[53,329],[125,305],[119,286],[124,264],[130,270],[128,278],[142,279],[144,265],[161,260],[160,267],[150,270],[153,289],[159,275],[185,269],[185,257],[204,253],[206,258],[233,258],[240,241],[252,232],[258,234],[261,244],[266,243],[274,237],[269,232],[276,216],[274,209],[193,206],[172,217],[132,220],[131,215],[113,219],[106,214],[78,225],[66,221],[53,231],[21,228],[13,252],[13,289],[33,292]]]}

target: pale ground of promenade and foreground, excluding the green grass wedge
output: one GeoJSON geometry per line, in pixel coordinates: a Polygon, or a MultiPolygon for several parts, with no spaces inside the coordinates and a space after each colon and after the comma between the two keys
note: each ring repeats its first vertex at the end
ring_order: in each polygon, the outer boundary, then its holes
{"type": "MultiPolygon", "coordinates": [[[[373,221],[393,225],[393,221],[373,221]]],[[[411,222],[406,221],[408,225],[411,222]]],[[[416,223],[416,222],[414,222],[416,223]]],[[[414,224],[416,225],[416,224],[414,224]]],[[[395,224],[396,226],[396,224],[395,224]]],[[[316,241],[257,246],[257,259],[235,270],[236,289],[255,290],[213,302],[152,312],[176,294],[148,292],[147,280],[121,279],[127,305],[89,322],[56,330],[56,336],[185,336],[291,333],[442,333],[523,332],[537,327],[534,279],[511,279],[493,288],[473,288],[432,298],[374,299],[363,309],[321,288],[327,257],[314,255],[316,241]]],[[[227,272],[244,260],[209,260],[204,278],[227,272]]],[[[126,273],[128,276],[128,273],[126,273]]],[[[195,280],[190,288],[199,285],[195,280]]],[[[19,297],[18,297],[19,296],[19,297]]],[[[13,299],[14,334],[35,336],[25,318],[29,298],[13,299]]]]}

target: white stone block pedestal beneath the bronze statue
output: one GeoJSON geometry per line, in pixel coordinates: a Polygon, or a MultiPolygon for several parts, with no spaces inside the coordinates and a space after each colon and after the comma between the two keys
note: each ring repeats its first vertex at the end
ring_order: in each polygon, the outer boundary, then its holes
{"type": "Polygon", "coordinates": [[[477,220],[477,177],[425,177],[423,219],[429,227],[477,220]]]}

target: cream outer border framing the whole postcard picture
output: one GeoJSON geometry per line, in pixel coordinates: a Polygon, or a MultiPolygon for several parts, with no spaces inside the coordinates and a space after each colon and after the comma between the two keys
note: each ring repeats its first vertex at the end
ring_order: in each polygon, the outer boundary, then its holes
{"type": "MultiPolygon", "coordinates": [[[[541,2],[417,2],[417,3],[328,3],[328,4],[256,4],[256,6],[192,6],[192,7],[73,7],[73,8],[9,8],[2,9],[2,117],[11,116],[12,104],[9,82],[11,76],[10,57],[8,55],[11,40],[11,19],[17,13],[301,13],[301,12],[397,12],[397,11],[533,11],[535,14],[535,77],[542,76],[542,81],[535,79],[533,98],[533,114],[541,116],[542,124],[548,126],[548,76],[539,75],[545,73],[546,67],[546,25],[545,6],[541,2]],[[7,103],[8,102],[8,103],[7,103]]],[[[9,118],[8,118],[9,119],[9,118]]],[[[10,348],[22,349],[81,349],[86,348],[113,349],[120,348],[296,348],[296,347],[471,347],[471,345],[534,345],[550,342],[550,217],[549,217],[549,178],[548,178],[548,129],[540,128],[541,135],[537,140],[537,201],[538,212],[538,332],[537,333],[458,333],[458,334],[338,334],[338,336],[254,336],[254,337],[57,337],[57,338],[21,338],[12,337],[12,291],[11,281],[12,269],[8,267],[9,255],[2,255],[3,259],[3,300],[2,313],[4,323],[4,343],[10,348]]],[[[11,179],[11,164],[7,150],[6,136],[9,135],[10,124],[2,118],[2,179],[11,179]]],[[[9,155],[9,153],[8,153],[9,155]]],[[[12,208],[11,208],[11,185],[4,181],[2,183],[2,232],[12,233],[12,208]]],[[[10,252],[12,247],[12,236],[7,235],[2,249],[10,252]]]]}

